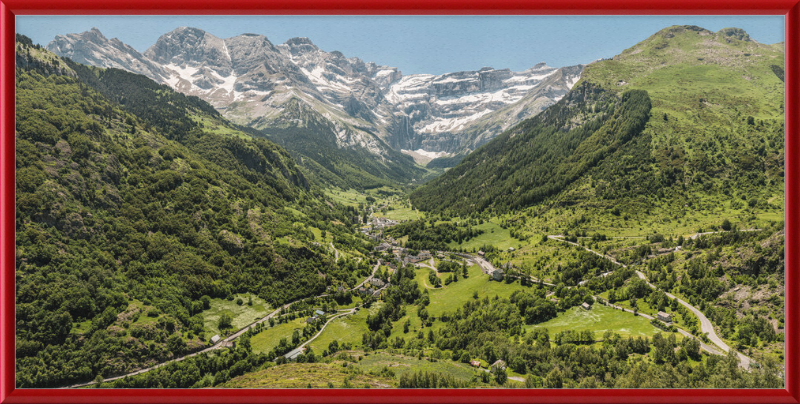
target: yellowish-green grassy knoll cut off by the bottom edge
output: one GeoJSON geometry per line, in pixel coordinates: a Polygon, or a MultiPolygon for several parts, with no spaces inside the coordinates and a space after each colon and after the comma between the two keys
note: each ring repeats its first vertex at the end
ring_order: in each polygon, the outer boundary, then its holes
{"type": "Polygon", "coordinates": [[[235,377],[220,385],[222,388],[389,388],[397,387],[397,381],[386,376],[363,374],[353,367],[349,370],[340,362],[334,363],[287,363],[258,372],[235,377]],[[347,379],[347,384],[345,384],[347,379]]]}

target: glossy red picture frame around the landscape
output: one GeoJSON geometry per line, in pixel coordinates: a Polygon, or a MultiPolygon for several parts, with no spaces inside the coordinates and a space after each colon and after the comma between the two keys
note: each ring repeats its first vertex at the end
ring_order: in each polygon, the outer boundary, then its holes
{"type": "Polygon", "coordinates": [[[0,403],[157,402],[800,402],[800,0],[0,0],[0,403]],[[234,390],[15,389],[15,15],[785,15],[786,388],[636,390],[234,390]]]}

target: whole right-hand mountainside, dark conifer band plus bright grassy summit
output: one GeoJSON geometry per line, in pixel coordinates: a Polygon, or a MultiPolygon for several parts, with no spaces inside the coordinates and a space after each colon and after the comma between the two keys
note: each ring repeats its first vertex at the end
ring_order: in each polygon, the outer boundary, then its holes
{"type": "Polygon", "coordinates": [[[616,206],[634,215],[656,202],[683,215],[679,206],[700,209],[701,199],[705,205],[731,196],[780,206],[783,58],[782,46],[756,43],[739,29],[666,28],[588,65],[554,107],[478,149],[413,193],[412,201],[460,214],[509,211],[555,195],[551,200],[560,204],[616,206]],[[622,100],[626,92],[646,91],[652,104],[646,125],[632,136],[607,126],[611,120],[587,126],[587,116],[618,111],[595,96],[584,100],[589,89],[607,94],[601,99],[622,100]],[[576,130],[597,132],[575,136],[576,130]],[[609,136],[584,144],[603,131],[609,136]],[[616,139],[629,140],[614,151],[616,139]],[[515,170],[498,168],[500,162],[515,170]]]}

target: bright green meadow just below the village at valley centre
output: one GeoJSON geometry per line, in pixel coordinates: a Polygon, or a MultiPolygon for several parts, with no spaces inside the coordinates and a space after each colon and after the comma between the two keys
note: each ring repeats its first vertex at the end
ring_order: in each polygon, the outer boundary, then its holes
{"type": "MultiPolygon", "coordinates": [[[[428,282],[428,268],[417,268],[416,279],[421,288],[428,290],[431,304],[428,306],[428,313],[432,316],[439,316],[444,312],[453,312],[472,299],[475,292],[478,297],[494,297],[495,295],[509,297],[515,290],[524,290],[525,286],[518,282],[507,284],[505,282],[490,281],[489,275],[481,272],[480,267],[473,265],[467,269],[469,277],[464,279],[459,275],[458,282],[453,282],[441,288],[431,289],[428,282]]],[[[444,279],[448,273],[441,273],[440,278],[444,279]]]]}

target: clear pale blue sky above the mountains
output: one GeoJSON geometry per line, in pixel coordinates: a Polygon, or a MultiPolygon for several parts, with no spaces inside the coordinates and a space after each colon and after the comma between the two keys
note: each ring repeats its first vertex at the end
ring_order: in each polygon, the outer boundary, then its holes
{"type": "Polygon", "coordinates": [[[97,27],[143,52],[180,26],[221,38],[265,35],[272,43],[308,37],[338,50],[399,68],[404,74],[525,70],[612,57],[670,25],[712,31],[738,27],[761,43],[784,40],[783,16],[17,16],[17,32],[46,45],[56,35],[97,27]]]}

